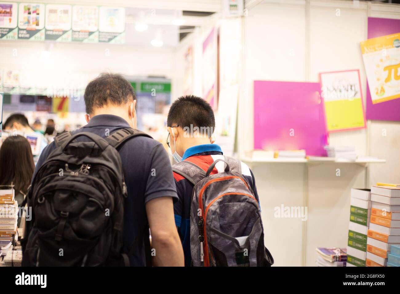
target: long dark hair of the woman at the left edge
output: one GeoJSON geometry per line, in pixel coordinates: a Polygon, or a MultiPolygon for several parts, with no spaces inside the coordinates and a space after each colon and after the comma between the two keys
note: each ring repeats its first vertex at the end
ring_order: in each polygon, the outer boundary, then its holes
{"type": "MultiPolygon", "coordinates": [[[[24,200],[32,181],[35,164],[28,140],[9,136],[0,148],[0,185],[14,185],[18,205],[24,200]]],[[[19,226],[20,218],[18,218],[19,226]]]]}

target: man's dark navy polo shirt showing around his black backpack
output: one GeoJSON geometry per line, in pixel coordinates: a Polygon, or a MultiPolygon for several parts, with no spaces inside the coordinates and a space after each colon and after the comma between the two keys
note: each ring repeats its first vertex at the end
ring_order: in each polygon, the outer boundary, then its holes
{"type": "MultiPolygon", "coordinates": [[[[119,116],[101,114],[92,117],[86,126],[72,133],[92,132],[104,138],[106,132],[111,134],[120,128],[129,128],[128,122],[119,116]]],[[[88,139],[80,137],[77,140],[87,141],[88,139]]],[[[54,149],[54,142],[44,148],[36,164],[34,175],[54,149]]],[[[143,228],[148,225],[146,202],[164,196],[172,197],[176,202],[178,195],[168,154],[160,142],[139,136],[126,141],[118,149],[128,188],[128,198],[124,203],[124,246],[130,248],[143,228]]],[[[130,256],[131,266],[146,265],[144,240],[148,237],[147,232],[139,236],[140,242],[134,254],[130,256]]]]}

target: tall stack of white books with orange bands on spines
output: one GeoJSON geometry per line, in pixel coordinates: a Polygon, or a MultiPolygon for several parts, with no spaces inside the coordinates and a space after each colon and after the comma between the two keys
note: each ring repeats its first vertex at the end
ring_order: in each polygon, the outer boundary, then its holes
{"type": "Polygon", "coordinates": [[[367,266],[386,266],[389,256],[392,256],[394,262],[398,260],[391,250],[392,245],[400,244],[400,186],[384,185],[371,188],[372,209],[367,238],[367,266]]]}

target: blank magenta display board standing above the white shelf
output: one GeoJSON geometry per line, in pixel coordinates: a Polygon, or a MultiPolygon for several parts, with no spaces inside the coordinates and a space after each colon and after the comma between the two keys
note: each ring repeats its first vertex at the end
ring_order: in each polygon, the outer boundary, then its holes
{"type": "Polygon", "coordinates": [[[326,156],[327,144],[319,83],[254,81],[254,149],[326,156]]]}

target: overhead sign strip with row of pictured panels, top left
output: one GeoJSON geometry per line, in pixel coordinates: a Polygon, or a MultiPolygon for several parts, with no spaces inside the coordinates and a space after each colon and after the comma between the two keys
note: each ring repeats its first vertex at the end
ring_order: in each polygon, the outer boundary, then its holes
{"type": "Polygon", "coordinates": [[[0,40],[125,43],[125,8],[0,3],[0,40]]]}

